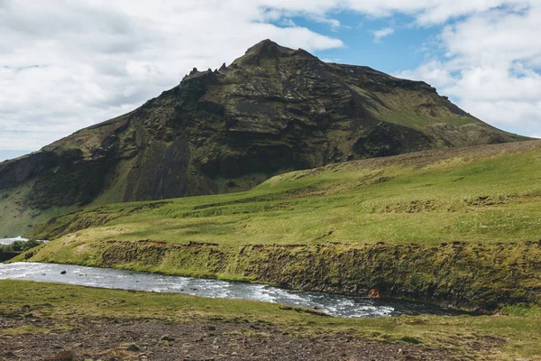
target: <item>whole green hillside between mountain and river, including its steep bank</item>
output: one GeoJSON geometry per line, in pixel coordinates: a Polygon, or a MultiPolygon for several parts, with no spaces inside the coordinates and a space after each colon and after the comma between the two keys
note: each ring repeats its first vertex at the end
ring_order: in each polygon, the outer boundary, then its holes
{"type": "Polygon", "coordinates": [[[254,190],[88,208],[33,261],[494,310],[541,302],[541,142],[295,171],[254,190]]]}

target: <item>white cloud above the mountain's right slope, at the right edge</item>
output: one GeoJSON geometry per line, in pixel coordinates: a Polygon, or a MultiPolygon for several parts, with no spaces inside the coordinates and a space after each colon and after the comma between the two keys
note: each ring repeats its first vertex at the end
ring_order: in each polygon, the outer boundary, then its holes
{"type": "Polygon", "coordinates": [[[424,79],[491,125],[535,136],[541,131],[541,5],[498,8],[448,25],[441,60],[396,75],[424,79]]]}

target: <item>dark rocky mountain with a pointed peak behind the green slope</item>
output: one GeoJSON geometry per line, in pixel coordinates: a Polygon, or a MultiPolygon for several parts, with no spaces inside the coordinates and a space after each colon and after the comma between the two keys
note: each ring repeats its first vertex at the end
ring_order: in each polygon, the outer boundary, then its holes
{"type": "Polygon", "coordinates": [[[327,163],[525,139],[424,82],[265,40],[131,113],[0,163],[0,234],[87,204],[248,190],[327,163]]]}

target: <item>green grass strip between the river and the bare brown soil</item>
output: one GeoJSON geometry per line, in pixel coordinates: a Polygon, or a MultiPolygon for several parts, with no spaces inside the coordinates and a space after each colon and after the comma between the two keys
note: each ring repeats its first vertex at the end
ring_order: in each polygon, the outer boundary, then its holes
{"type": "MultiPolygon", "coordinates": [[[[298,338],[349,335],[445,350],[457,359],[541,359],[541,310],[507,308],[494,316],[336,319],[265,302],[92,289],[60,283],[0,281],[0,316],[53,319],[49,327],[0,328],[0,337],[62,333],[75,319],[161,319],[274,325],[298,338]]],[[[252,329],[252,332],[254,330],[252,329]]],[[[268,337],[268,336],[267,336],[268,337]]]]}

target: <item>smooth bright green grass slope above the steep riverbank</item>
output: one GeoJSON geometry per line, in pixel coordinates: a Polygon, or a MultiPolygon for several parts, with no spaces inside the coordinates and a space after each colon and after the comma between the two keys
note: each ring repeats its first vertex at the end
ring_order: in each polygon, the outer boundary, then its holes
{"type": "MultiPolygon", "coordinates": [[[[451,157],[445,152],[453,151],[440,152],[428,163],[420,156],[408,164],[401,156],[295,171],[247,192],[173,199],[80,230],[78,236],[229,245],[536,240],[541,236],[541,151],[532,144],[534,149],[518,153],[480,156],[481,147],[451,157]]],[[[92,223],[138,205],[108,205],[83,214],[92,223]]],[[[72,220],[60,218],[30,235],[57,236],[51,230],[72,220]]]]}

